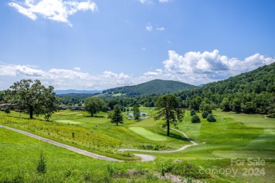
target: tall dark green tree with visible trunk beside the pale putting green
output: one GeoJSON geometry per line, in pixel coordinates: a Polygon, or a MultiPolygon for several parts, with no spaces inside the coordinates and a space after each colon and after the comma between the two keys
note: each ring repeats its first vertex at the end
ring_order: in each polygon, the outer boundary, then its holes
{"type": "Polygon", "coordinates": [[[167,127],[167,135],[170,135],[170,124],[175,127],[178,122],[181,122],[184,117],[184,111],[178,108],[179,102],[176,96],[173,94],[165,94],[159,98],[156,103],[157,113],[154,116],[154,120],[166,120],[163,127],[167,127]]]}

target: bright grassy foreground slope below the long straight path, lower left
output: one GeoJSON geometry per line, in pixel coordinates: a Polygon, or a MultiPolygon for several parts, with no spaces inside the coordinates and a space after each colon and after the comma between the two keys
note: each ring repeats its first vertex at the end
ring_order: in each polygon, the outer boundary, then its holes
{"type": "Polygon", "coordinates": [[[2,128],[0,139],[0,182],[126,182],[126,179],[139,182],[157,181],[154,175],[128,175],[128,170],[155,170],[155,164],[96,160],[2,128]],[[44,175],[36,172],[41,151],[47,160],[47,173],[44,175]],[[120,172],[120,176],[111,176],[107,171],[108,166],[114,172],[120,172]]]}

